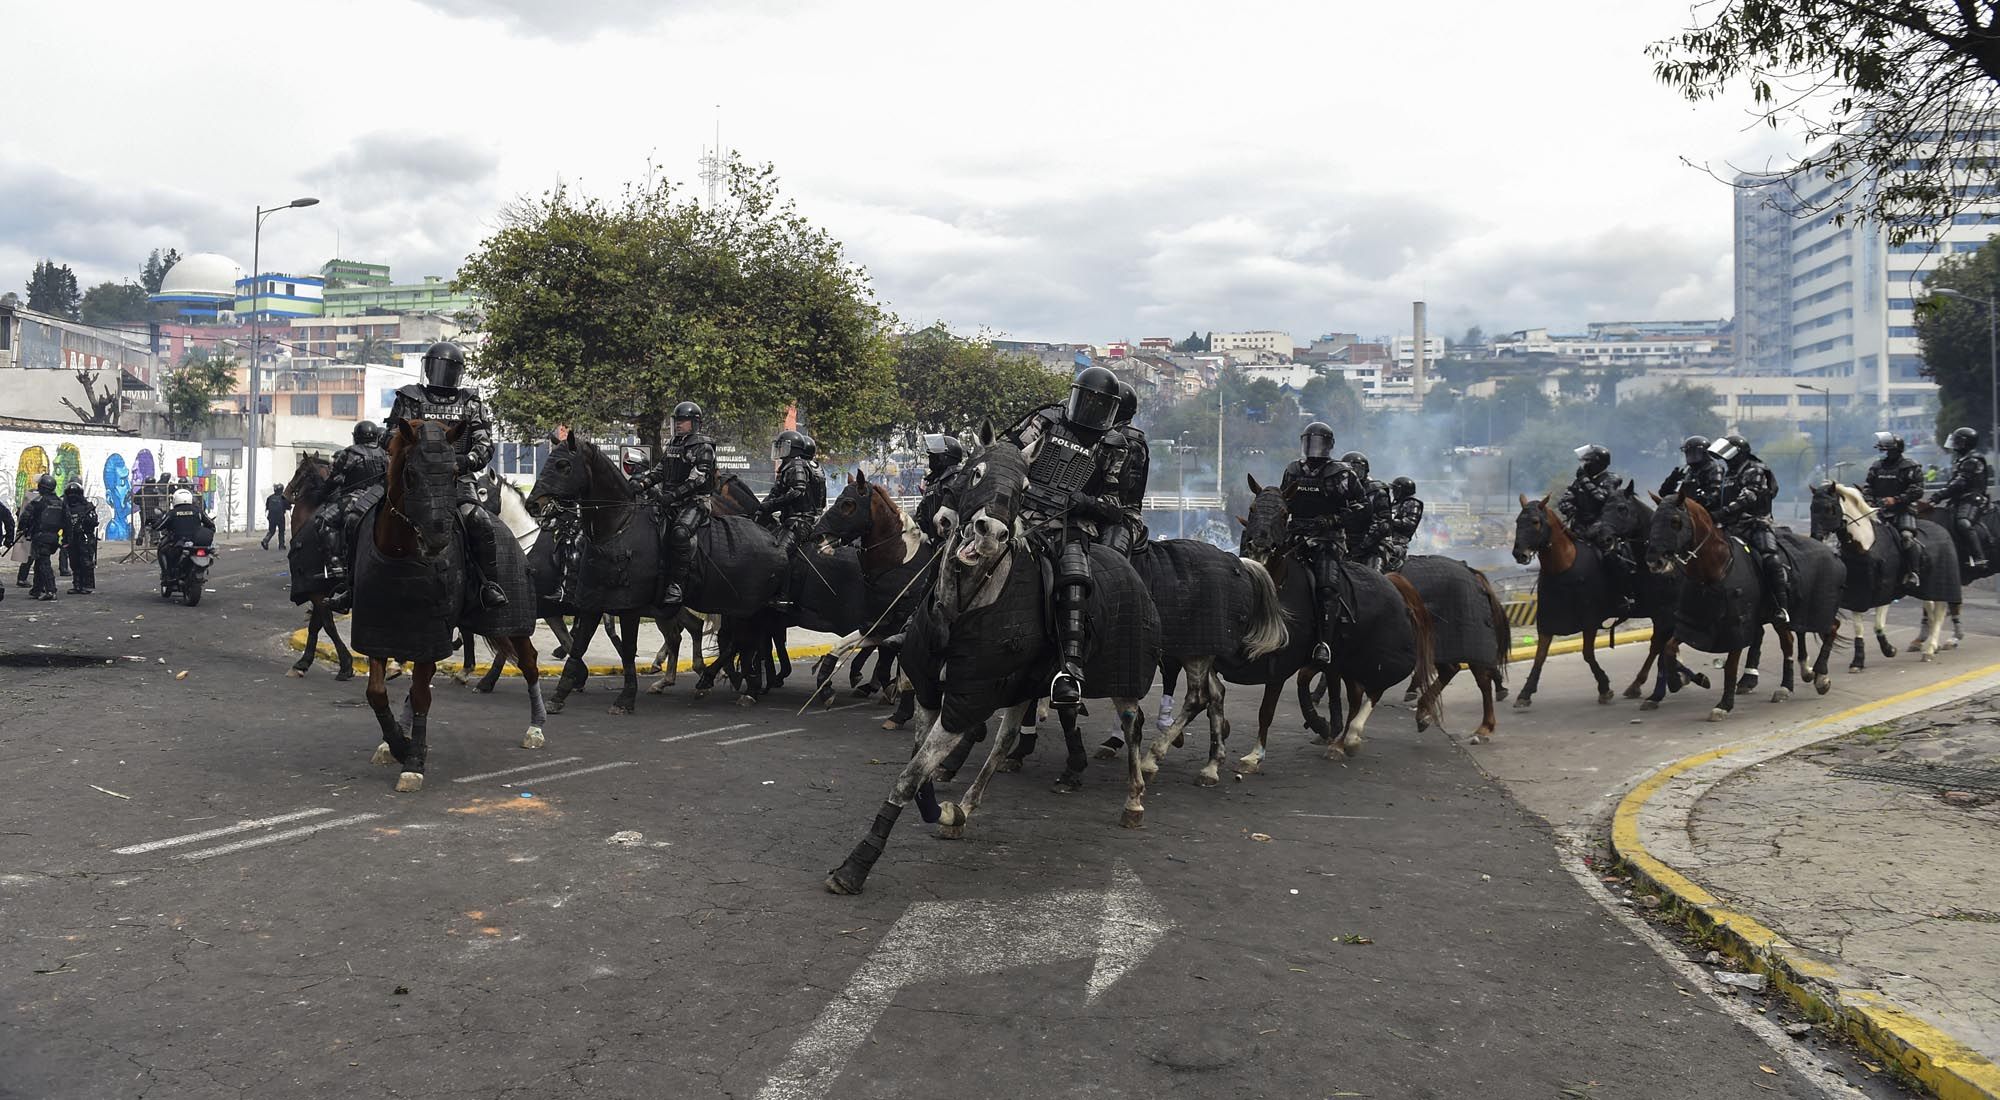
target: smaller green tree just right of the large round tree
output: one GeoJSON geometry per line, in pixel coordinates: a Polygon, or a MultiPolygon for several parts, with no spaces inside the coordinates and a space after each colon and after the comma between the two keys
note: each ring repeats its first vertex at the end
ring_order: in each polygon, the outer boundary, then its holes
{"type": "Polygon", "coordinates": [[[894,354],[902,408],[888,412],[892,422],[918,432],[960,432],[988,418],[1008,428],[1070,390],[1070,378],[1040,360],[954,336],[942,320],[900,334],[894,354]]]}

